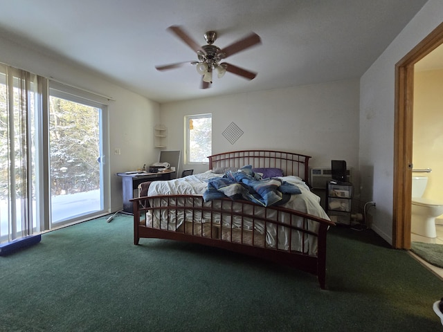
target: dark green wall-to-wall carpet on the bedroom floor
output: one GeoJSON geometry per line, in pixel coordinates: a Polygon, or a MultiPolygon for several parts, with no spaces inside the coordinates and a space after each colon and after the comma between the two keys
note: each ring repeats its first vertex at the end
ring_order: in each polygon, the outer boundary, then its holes
{"type": "Polygon", "coordinates": [[[327,287],[300,270],[161,239],[132,217],[0,257],[0,331],[440,331],[443,282],[371,230],[332,228],[327,287]]]}

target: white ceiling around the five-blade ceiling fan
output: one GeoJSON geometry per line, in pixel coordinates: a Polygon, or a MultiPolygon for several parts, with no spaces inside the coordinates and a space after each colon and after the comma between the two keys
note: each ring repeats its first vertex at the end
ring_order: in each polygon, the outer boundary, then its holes
{"type": "Polygon", "coordinates": [[[361,77],[426,0],[407,2],[13,0],[2,1],[0,35],[168,102],[361,77]],[[257,33],[262,44],[227,60],[257,77],[226,73],[201,90],[195,66],[156,71],[156,65],[197,59],[166,30],[171,25],[202,45],[204,33],[215,30],[220,48],[257,33]]]}

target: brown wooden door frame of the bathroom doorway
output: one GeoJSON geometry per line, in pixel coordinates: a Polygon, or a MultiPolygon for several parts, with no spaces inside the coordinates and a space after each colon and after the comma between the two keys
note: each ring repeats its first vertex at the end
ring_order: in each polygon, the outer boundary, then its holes
{"type": "Polygon", "coordinates": [[[395,65],[392,246],[398,249],[410,249],[414,65],[441,44],[443,44],[443,23],[395,65]]]}

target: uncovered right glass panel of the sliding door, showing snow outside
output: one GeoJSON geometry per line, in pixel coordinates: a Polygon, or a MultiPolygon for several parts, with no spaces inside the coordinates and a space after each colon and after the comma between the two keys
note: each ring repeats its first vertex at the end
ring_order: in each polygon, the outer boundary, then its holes
{"type": "Polygon", "coordinates": [[[103,107],[50,89],[51,228],[104,210],[103,107]]]}

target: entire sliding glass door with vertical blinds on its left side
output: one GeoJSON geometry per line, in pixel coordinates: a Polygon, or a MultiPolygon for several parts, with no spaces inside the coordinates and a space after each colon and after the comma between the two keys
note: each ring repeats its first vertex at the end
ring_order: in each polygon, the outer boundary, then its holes
{"type": "Polygon", "coordinates": [[[0,64],[0,243],[109,213],[106,102],[0,64]]]}

